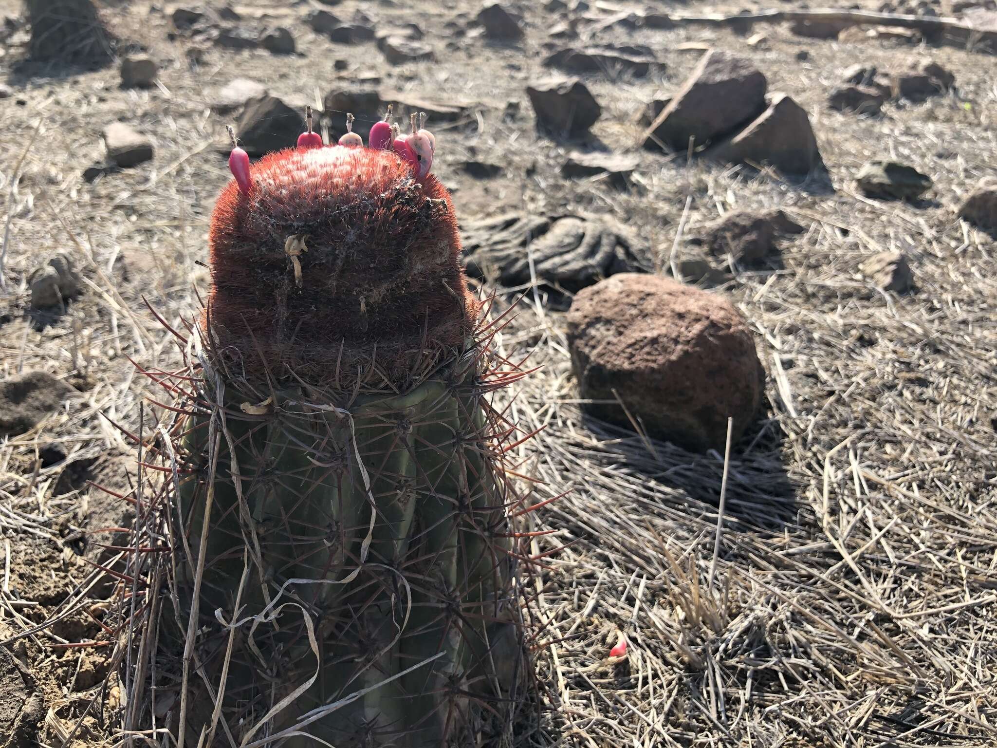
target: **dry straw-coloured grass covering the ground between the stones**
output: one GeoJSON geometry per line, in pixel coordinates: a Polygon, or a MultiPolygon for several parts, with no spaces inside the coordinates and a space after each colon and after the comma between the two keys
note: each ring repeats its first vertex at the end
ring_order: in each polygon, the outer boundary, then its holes
{"type": "MultiPolygon", "coordinates": [[[[385,19],[408,12],[377,11],[385,19]]],[[[451,15],[438,9],[421,22],[448,38],[451,15]]],[[[809,228],[786,243],[778,263],[736,268],[724,289],[758,333],[771,407],[732,449],[723,517],[721,455],[691,455],[582,416],[562,325],[540,291],[527,294],[503,332],[510,358],[532,352],[530,364],[542,365],[500,396],[516,396],[511,412],[522,429],[545,427],[521,447],[521,472],[543,482],[534,487],[537,502],[564,494],[529,515],[530,530],[554,531],[533,540],[547,568],[527,611],[529,633],[550,707],[534,743],[993,744],[997,244],[952,211],[997,163],[993,58],[946,50],[938,57],[956,74],[956,94],[859,120],[825,108],[841,69],[859,59],[902,69],[933,53],[801,40],[778,27],[762,27],[767,41],[757,47],[719,29],[604,32],[602,41],[651,44],[669,72],[590,82],[606,110],[595,128],[602,142],[629,147],[639,102],[673,89],[692,67],[698,53],[682,43],[704,42],[752,58],[773,89],[808,109],[836,187],[807,191],[771,175],[648,156],[640,188],[620,193],[598,180],[563,181],[564,147],[532,133],[522,87],[541,72],[542,19],[527,16],[528,55],[469,42],[453,52],[453,67],[380,71],[390,86],[495,97],[480,119],[437,133],[447,144],[439,171],[460,187],[463,214],[520,205],[612,212],[660,248],[663,264],[690,197],[686,232],[731,209],[769,206],[809,228]],[[795,59],[803,49],[811,53],[805,64],[795,59]],[[500,118],[508,99],[524,111],[511,123],[500,118]],[[933,200],[856,194],[849,176],[882,156],[929,174],[933,200]],[[468,158],[502,163],[505,178],[476,183],[448,166],[468,158]],[[857,273],[863,257],[885,249],[907,253],[914,293],[884,295],[857,273]],[[627,655],[608,659],[620,635],[627,655]]],[[[159,88],[120,91],[114,71],[35,78],[16,82],[25,85],[17,96],[26,106],[8,101],[0,110],[0,193],[10,195],[11,225],[0,370],[43,369],[81,390],[43,428],[0,445],[0,644],[34,673],[31,690],[48,713],[42,740],[54,746],[112,744],[121,717],[120,688],[103,685],[102,675],[119,669],[111,651],[131,650],[113,646],[120,621],[102,617],[107,573],[78,553],[86,531],[105,527],[89,519],[98,498],[59,479],[71,463],[128,447],[112,421],[138,429],[148,393],[126,356],[144,368],[178,359],[142,296],[176,325],[195,305],[192,286],[204,287],[195,261],[226,179],[210,147],[225,123],[206,102],[236,74],[310,101],[316,87],[333,85],[320,60],[358,54],[322,51],[295,21],[310,57],[281,61],[283,79],[263,53],[211,51],[190,71],[158,17],[133,9],[123,18],[127,28],[113,29],[119,36],[157,35],[149,43],[166,61],[159,88]],[[155,133],[157,160],[88,186],[79,173],[101,158],[99,131],[116,118],[155,133]],[[26,311],[25,278],[56,249],[75,254],[87,289],[65,315],[42,319],[26,311]],[[67,459],[42,467],[40,450],[52,443],[67,459]]],[[[143,421],[160,415],[147,405],[143,421]]]]}

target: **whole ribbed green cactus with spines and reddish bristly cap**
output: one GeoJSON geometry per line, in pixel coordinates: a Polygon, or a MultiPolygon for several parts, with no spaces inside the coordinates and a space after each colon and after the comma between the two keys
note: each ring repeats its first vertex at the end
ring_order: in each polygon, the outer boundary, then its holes
{"type": "Polygon", "coordinates": [[[170,729],[507,744],[525,672],[501,455],[519,437],[489,394],[521,374],[490,353],[449,193],[388,150],[291,149],[225,187],[209,244],[162,450],[170,729]]]}

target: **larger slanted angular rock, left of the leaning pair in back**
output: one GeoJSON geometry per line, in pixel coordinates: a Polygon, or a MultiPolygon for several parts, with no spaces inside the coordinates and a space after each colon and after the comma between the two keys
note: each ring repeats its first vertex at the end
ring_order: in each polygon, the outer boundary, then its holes
{"type": "Polygon", "coordinates": [[[645,148],[685,152],[689,140],[705,145],[733,132],[765,110],[765,76],[726,52],[703,55],[669,105],[643,135],[645,148]]]}

